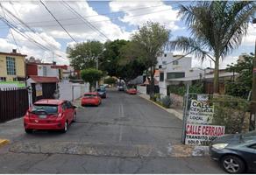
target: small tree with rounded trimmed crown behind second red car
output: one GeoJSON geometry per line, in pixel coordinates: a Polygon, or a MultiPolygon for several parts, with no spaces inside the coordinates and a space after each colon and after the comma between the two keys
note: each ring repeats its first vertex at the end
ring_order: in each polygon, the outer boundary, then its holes
{"type": "Polygon", "coordinates": [[[81,71],[81,77],[83,81],[89,82],[89,91],[91,92],[92,86],[103,77],[103,72],[95,68],[88,68],[81,71]]]}

